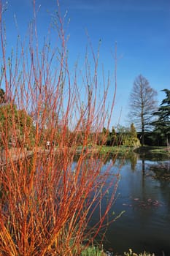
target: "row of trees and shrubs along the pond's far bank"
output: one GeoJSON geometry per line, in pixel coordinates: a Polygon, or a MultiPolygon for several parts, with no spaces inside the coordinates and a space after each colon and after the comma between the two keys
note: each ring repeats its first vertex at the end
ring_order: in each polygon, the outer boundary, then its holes
{"type": "MultiPolygon", "coordinates": [[[[105,146],[134,146],[140,145],[148,146],[166,146],[170,143],[170,90],[163,89],[166,94],[165,99],[161,102],[161,105],[156,108],[155,106],[155,91],[149,86],[149,83],[141,75],[135,80],[134,92],[131,94],[131,123],[130,127],[123,127],[118,125],[112,127],[111,130],[103,128],[97,136],[96,145],[105,146]],[[139,88],[138,88],[139,86],[139,88]],[[144,86],[144,88],[142,87],[144,86]],[[142,87],[142,89],[140,89],[142,87]],[[154,99],[153,99],[154,98],[154,99]],[[134,116],[134,118],[133,118],[134,116]],[[142,118],[143,116],[143,118],[142,118]],[[136,127],[139,129],[136,132],[136,127]],[[140,130],[141,129],[141,130],[140,130]]],[[[41,146],[50,140],[50,120],[42,129],[41,146]]],[[[58,126],[58,135],[56,134],[55,145],[60,143],[59,133],[62,124],[56,120],[58,126]]],[[[28,114],[25,109],[18,110],[17,105],[14,102],[9,101],[5,97],[5,92],[0,89],[0,144],[2,140],[9,146],[20,145],[20,141],[24,141],[24,145],[27,148],[34,147],[34,115],[28,114]],[[27,132],[24,132],[24,131],[27,132]],[[24,135],[24,136],[23,136],[24,135]]],[[[75,135],[68,129],[66,130],[66,140],[70,146],[72,146],[72,140],[76,138],[77,145],[82,145],[82,141],[85,136],[85,120],[83,120],[82,129],[75,135]]],[[[95,134],[91,131],[88,138],[88,144],[91,141],[94,143],[95,134]],[[91,140],[90,140],[91,138],[91,140]]]]}

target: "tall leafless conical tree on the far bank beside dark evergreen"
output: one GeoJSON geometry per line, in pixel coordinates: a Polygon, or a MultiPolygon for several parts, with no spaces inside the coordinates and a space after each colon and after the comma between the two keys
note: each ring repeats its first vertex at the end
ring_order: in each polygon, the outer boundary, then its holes
{"type": "Polygon", "coordinates": [[[150,83],[144,76],[136,77],[130,94],[129,117],[131,121],[134,121],[137,129],[142,132],[142,146],[144,145],[144,133],[150,129],[152,113],[157,107],[156,96],[157,92],[150,87],[150,83]]]}

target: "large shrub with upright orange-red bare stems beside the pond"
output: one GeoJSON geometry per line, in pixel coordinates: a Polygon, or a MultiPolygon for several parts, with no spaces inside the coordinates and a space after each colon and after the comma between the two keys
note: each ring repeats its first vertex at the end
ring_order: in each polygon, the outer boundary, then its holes
{"type": "MultiPolygon", "coordinates": [[[[58,31],[56,44],[50,42],[48,31],[44,44],[39,46],[36,1],[33,7],[28,41],[22,42],[18,37],[16,53],[10,58],[0,10],[3,69],[0,88],[5,88],[9,99],[16,102],[16,105],[12,101],[1,105],[4,158],[0,169],[0,251],[8,256],[76,256],[81,254],[84,241],[93,244],[99,230],[106,227],[104,219],[115,199],[120,178],[117,169],[110,176],[112,165],[101,172],[107,156],[99,157],[95,148],[102,127],[105,124],[109,127],[111,116],[108,118],[107,113],[112,115],[114,91],[109,91],[109,86],[105,88],[104,81],[101,97],[98,53],[92,47],[93,61],[88,60],[88,53],[84,72],[77,71],[77,65],[74,73],[70,72],[63,22],[66,17],[62,18],[59,4],[56,20],[50,26],[58,31]],[[78,80],[77,72],[82,74],[78,80]],[[81,91],[88,94],[82,95],[81,91]],[[111,104],[108,95],[113,95],[111,104]],[[80,107],[82,100],[84,108],[80,107]],[[74,162],[82,124],[85,124],[82,145],[74,162]],[[27,152],[25,146],[31,145],[33,137],[34,148],[27,152]],[[9,149],[10,140],[15,141],[15,153],[9,149]],[[46,140],[50,145],[55,142],[56,147],[46,150],[46,140]],[[110,187],[110,200],[101,209],[101,200],[110,187]],[[89,227],[95,210],[99,217],[89,227]]],[[[107,81],[111,84],[109,78],[107,81]]],[[[101,146],[102,143],[104,139],[101,146]]],[[[107,225],[112,221],[114,217],[107,225]]]]}

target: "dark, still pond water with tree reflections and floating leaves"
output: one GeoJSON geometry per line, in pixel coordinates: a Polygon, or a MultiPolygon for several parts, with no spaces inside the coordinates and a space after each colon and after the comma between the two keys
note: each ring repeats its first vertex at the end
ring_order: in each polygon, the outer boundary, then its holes
{"type": "MultiPolygon", "coordinates": [[[[108,159],[106,165],[108,165],[108,159]]],[[[120,165],[117,159],[113,168],[120,165]]],[[[170,255],[170,182],[154,179],[154,167],[166,163],[150,157],[125,159],[120,170],[120,182],[117,188],[117,200],[111,213],[115,216],[125,211],[115,222],[109,225],[104,248],[114,253],[155,252],[155,255],[170,255]]],[[[103,207],[107,199],[104,199],[103,207]]],[[[95,221],[95,217],[93,219],[95,221]]]]}

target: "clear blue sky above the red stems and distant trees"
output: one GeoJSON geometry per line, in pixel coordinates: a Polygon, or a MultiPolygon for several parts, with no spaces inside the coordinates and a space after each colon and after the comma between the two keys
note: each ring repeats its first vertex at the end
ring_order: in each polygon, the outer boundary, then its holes
{"type": "MultiPolygon", "coordinates": [[[[9,0],[5,13],[8,45],[14,42],[14,15],[20,34],[32,15],[31,0],[9,0]]],[[[69,58],[84,58],[88,43],[87,29],[94,50],[101,39],[100,64],[114,72],[117,42],[117,96],[112,124],[127,125],[128,97],[134,79],[144,75],[158,91],[158,103],[165,97],[162,89],[170,89],[170,0],[61,0],[61,11],[70,19],[69,58]]],[[[56,0],[37,0],[40,33],[46,34],[50,16],[57,10],[56,0]]]]}

